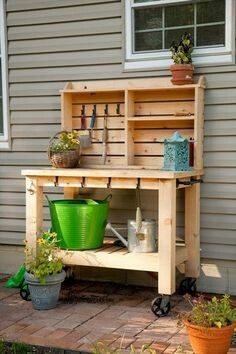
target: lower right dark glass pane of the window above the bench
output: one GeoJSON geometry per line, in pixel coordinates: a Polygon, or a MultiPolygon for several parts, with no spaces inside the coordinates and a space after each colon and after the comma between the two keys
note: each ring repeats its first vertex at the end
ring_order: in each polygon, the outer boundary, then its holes
{"type": "Polygon", "coordinates": [[[203,26],[197,28],[197,46],[225,45],[225,26],[203,26]]]}

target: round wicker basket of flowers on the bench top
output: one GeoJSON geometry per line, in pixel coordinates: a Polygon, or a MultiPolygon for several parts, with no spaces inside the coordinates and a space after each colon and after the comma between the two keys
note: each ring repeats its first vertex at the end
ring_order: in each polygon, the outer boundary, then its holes
{"type": "Polygon", "coordinates": [[[76,130],[56,133],[49,142],[48,157],[53,167],[74,168],[79,164],[80,140],[76,130]]]}

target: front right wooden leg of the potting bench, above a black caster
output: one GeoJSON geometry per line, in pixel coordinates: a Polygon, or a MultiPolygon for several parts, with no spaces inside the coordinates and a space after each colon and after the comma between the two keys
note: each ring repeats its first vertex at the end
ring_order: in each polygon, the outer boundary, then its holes
{"type": "Polygon", "coordinates": [[[175,292],[176,181],[160,180],[159,187],[158,292],[175,292]]]}

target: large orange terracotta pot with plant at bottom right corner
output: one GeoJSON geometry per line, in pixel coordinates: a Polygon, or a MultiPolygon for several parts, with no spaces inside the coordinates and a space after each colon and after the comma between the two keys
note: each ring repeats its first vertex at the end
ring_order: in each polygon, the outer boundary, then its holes
{"type": "Polygon", "coordinates": [[[226,354],[236,327],[236,308],[229,295],[210,300],[200,296],[195,302],[186,295],[192,309],[181,315],[196,354],[226,354]]]}

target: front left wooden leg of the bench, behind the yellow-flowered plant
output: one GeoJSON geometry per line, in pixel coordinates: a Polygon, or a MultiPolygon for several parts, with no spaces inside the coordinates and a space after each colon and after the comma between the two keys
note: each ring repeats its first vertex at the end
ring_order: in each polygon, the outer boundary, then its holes
{"type": "Polygon", "coordinates": [[[37,178],[26,178],[26,240],[28,247],[36,250],[37,236],[43,226],[43,187],[37,178]]]}

